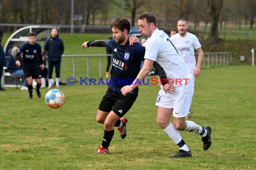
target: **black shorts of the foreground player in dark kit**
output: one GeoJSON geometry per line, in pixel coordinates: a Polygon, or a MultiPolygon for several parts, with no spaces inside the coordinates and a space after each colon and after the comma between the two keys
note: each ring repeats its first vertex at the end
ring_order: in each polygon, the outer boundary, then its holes
{"type": "Polygon", "coordinates": [[[132,107],[136,96],[123,96],[107,89],[99,106],[99,110],[110,112],[113,110],[120,118],[123,117],[132,107]]]}

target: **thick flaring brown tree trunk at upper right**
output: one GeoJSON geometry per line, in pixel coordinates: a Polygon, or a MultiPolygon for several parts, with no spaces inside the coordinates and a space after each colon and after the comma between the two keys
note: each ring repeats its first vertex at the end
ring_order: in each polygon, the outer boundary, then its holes
{"type": "Polygon", "coordinates": [[[208,40],[211,42],[218,42],[218,22],[221,14],[223,0],[208,0],[208,9],[212,18],[211,28],[208,36],[208,40]]]}

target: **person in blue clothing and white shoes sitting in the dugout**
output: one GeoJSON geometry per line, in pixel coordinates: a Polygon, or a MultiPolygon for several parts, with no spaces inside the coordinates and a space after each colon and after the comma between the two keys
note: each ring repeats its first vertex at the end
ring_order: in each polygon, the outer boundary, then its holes
{"type": "Polygon", "coordinates": [[[15,64],[15,55],[17,54],[17,52],[19,51],[18,47],[13,47],[11,55],[8,56],[8,60],[7,60],[7,69],[8,71],[11,73],[11,76],[22,76],[23,77],[23,82],[22,82],[22,86],[21,86],[21,90],[27,90],[27,81],[26,78],[24,76],[24,72],[22,70],[22,68],[20,68],[17,64],[15,64]]]}

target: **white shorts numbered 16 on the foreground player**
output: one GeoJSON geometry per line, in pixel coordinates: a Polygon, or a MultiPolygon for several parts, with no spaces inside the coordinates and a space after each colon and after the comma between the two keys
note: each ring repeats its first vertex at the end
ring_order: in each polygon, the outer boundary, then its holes
{"type": "Polygon", "coordinates": [[[194,94],[194,84],[188,81],[187,85],[181,85],[175,88],[175,92],[165,93],[161,88],[156,98],[155,105],[173,109],[172,115],[176,118],[185,117],[191,106],[194,94]]]}

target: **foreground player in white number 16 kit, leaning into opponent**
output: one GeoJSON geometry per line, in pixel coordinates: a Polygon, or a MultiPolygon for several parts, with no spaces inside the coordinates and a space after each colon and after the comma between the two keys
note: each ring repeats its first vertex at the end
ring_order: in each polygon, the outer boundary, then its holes
{"type": "Polygon", "coordinates": [[[203,149],[207,150],[212,144],[211,127],[201,127],[192,121],[185,119],[192,101],[194,93],[194,84],[192,81],[184,81],[191,79],[192,75],[187,64],[181,57],[180,52],[170,41],[168,34],[163,30],[159,30],[156,26],[156,17],[154,14],[147,12],[138,17],[138,25],[140,33],[148,37],[145,45],[146,52],[144,56],[144,65],[133,81],[132,85],[124,86],[121,91],[124,95],[135,89],[150,72],[154,63],[159,64],[163,69],[167,79],[183,80],[181,83],[175,82],[173,85],[169,82],[159,90],[156,106],[158,125],[163,131],[179,146],[179,152],[173,157],[191,157],[192,153],[185,141],[182,139],[179,131],[187,131],[197,133],[202,136],[203,149]],[[171,114],[173,116],[170,122],[171,114]]]}

